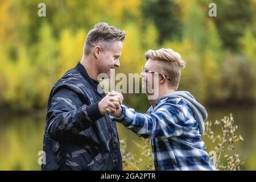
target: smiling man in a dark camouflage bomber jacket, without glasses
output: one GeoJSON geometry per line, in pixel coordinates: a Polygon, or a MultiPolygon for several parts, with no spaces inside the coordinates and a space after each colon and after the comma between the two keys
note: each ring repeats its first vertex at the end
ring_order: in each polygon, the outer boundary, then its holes
{"type": "Polygon", "coordinates": [[[122,104],[118,93],[98,92],[100,73],[119,67],[125,32],[97,23],[88,32],[82,60],[53,86],[48,100],[42,170],[121,170],[115,122],[108,104],[122,104]]]}

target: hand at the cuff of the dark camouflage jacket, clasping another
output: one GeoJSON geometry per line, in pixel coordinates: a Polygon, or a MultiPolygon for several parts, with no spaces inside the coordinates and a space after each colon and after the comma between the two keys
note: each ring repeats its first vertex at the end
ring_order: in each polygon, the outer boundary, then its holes
{"type": "MultiPolygon", "coordinates": [[[[102,115],[106,113],[115,114],[117,110],[121,109],[121,104],[123,102],[123,96],[118,92],[110,92],[106,95],[106,97],[102,98],[100,102],[98,102],[98,108],[102,115]]],[[[122,110],[122,109],[121,109],[122,110]]]]}

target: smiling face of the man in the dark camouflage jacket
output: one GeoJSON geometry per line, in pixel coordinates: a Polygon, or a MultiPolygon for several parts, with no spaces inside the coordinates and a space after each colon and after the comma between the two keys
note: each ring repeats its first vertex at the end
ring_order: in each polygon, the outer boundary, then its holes
{"type": "Polygon", "coordinates": [[[121,41],[113,43],[108,50],[102,51],[102,55],[98,62],[100,73],[106,73],[110,77],[110,73],[115,67],[119,67],[119,57],[121,56],[123,43],[121,41]]]}

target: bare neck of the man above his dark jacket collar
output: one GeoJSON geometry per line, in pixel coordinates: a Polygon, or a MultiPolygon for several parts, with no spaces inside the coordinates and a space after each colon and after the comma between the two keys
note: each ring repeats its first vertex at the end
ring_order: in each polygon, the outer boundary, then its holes
{"type": "Polygon", "coordinates": [[[98,70],[95,65],[95,61],[92,60],[92,57],[90,57],[90,56],[86,57],[83,55],[80,63],[85,68],[89,77],[95,81],[98,81],[98,70]]]}

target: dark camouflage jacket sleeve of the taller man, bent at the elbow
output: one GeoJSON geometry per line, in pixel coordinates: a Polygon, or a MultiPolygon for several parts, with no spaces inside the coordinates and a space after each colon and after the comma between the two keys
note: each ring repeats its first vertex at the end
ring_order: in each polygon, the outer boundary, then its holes
{"type": "Polygon", "coordinates": [[[104,116],[100,114],[98,102],[84,105],[79,96],[69,89],[59,90],[49,102],[51,104],[47,111],[46,133],[53,140],[85,130],[104,116]]]}

